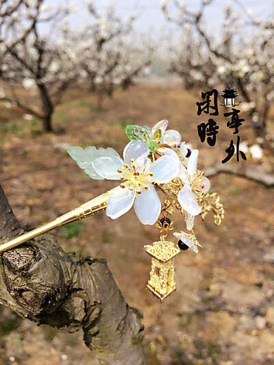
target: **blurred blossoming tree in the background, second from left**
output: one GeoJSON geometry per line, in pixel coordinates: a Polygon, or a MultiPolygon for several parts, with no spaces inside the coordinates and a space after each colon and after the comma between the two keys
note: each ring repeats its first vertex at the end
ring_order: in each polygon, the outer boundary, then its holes
{"type": "Polygon", "coordinates": [[[117,88],[128,88],[151,64],[153,45],[140,42],[134,34],[135,15],[125,20],[114,5],[99,12],[93,2],[88,5],[88,13],[92,23],[79,36],[79,67],[90,91],[97,94],[101,109],[105,97],[112,97],[117,88]]]}

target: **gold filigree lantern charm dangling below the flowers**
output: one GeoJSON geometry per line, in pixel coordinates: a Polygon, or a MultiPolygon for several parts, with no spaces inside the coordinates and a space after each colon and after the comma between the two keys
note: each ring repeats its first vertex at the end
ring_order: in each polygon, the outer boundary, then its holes
{"type": "Polygon", "coordinates": [[[145,245],[145,251],[152,256],[147,288],[162,301],[176,290],[175,256],[180,250],[172,242],[162,240],[145,245]]]}

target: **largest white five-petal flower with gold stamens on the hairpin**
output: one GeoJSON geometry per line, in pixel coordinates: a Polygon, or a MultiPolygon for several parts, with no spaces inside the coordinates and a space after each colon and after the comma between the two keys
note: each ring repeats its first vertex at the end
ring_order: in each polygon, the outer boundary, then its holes
{"type": "Polygon", "coordinates": [[[106,214],[110,218],[119,218],[134,205],[143,225],[153,225],[157,221],[161,203],[153,184],[164,184],[177,177],[180,161],[179,158],[175,161],[163,155],[152,163],[148,155],[145,142],[132,140],[123,151],[123,160],[114,151],[112,155],[98,157],[91,162],[97,174],[93,178],[123,180],[108,200],[106,214]]]}

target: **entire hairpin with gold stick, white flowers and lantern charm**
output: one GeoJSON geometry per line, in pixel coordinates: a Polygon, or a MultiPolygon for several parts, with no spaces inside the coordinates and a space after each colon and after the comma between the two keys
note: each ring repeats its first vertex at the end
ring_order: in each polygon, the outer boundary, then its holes
{"type": "Polygon", "coordinates": [[[225,211],[219,195],[208,192],[209,180],[197,170],[197,149],[190,150],[181,142],[178,131],[166,130],[167,125],[168,121],[160,121],[151,131],[138,125],[127,126],[130,142],[123,158],[111,148],[69,147],[71,158],[92,179],[120,180],[120,184],[54,221],[1,244],[0,252],[104,210],[116,219],[134,207],[143,225],[155,225],[160,230],[159,240],[145,245],[151,256],[147,288],[161,301],[168,297],[176,289],[175,256],[187,249],[198,253],[201,247],[194,232],[195,216],[204,220],[212,211],[214,223],[219,225],[225,211]],[[164,199],[160,199],[158,192],[164,199]],[[173,243],[167,238],[174,229],[171,217],[176,211],[182,214],[188,232],[175,232],[177,243],[173,243]]]}

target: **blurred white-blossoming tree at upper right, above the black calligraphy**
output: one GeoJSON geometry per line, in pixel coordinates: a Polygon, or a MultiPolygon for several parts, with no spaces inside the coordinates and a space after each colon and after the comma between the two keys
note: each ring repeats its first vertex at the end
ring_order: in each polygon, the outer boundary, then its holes
{"type": "Polygon", "coordinates": [[[273,23],[256,18],[235,1],[240,11],[228,5],[221,30],[214,34],[205,25],[206,8],[213,2],[202,0],[197,12],[191,12],[179,0],[162,2],[166,19],[182,31],[177,40],[181,40],[180,47],[172,47],[171,70],[188,87],[200,87],[201,83],[210,87],[236,86],[256,137],[274,153],[274,137],[269,131],[274,98],[273,23]]]}

